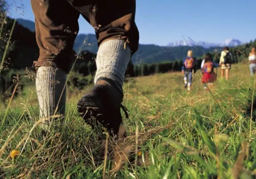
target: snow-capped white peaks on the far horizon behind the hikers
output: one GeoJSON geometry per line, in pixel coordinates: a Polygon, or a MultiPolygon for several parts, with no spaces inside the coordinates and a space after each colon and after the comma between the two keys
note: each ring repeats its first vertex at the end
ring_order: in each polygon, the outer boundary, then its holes
{"type": "Polygon", "coordinates": [[[179,40],[175,42],[170,42],[167,44],[168,47],[177,47],[177,46],[201,46],[204,48],[210,47],[236,47],[240,46],[242,41],[238,39],[226,39],[223,43],[214,43],[214,42],[207,42],[207,41],[194,41],[194,40],[179,40]]]}

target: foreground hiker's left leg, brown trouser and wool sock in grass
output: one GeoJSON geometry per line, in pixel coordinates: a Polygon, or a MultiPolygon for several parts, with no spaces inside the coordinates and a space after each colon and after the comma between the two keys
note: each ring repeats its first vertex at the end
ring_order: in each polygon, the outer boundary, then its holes
{"type": "Polygon", "coordinates": [[[66,74],[78,33],[79,12],[67,1],[31,0],[39,58],[34,61],[40,116],[65,114],[66,74]],[[68,13],[67,13],[68,12],[68,13]]]}

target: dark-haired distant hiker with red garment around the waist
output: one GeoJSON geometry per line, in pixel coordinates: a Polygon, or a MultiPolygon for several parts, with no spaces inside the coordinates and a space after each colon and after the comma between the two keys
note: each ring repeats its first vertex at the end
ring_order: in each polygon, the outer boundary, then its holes
{"type": "Polygon", "coordinates": [[[215,82],[217,80],[216,73],[214,72],[214,68],[218,67],[219,64],[214,63],[212,61],[212,57],[210,53],[207,53],[204,59],[204,63],[202,66],[202,72],[203,76],[201,79],[201,82],[204,83],[204,89],[207,89],[207,83],[208,85],[212,85],[212,82],[215,82]]]}

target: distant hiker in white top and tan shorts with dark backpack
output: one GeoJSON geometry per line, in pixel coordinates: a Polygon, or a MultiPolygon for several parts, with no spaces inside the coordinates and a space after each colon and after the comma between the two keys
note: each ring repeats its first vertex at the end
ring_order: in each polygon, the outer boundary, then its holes
{"type": "Polygon", "coordinates": [[[219,65],[221,66],[221,79],[224,78],[225,73],[226,81],[228,80],[232,61],[233,58],[231,52],[229,51],[229,48],[224,47],[223,51],[221,52],[221,58],[219,63],[219,65]]]}

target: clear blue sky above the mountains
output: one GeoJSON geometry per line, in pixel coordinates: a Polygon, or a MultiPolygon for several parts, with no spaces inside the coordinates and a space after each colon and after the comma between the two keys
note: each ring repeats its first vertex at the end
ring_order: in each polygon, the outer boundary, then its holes
{"type": "MultiPolygon", "coordinates": [[[[64,0],[63,0],[64,1],[64,0]]],[[[86,0],[83,0],[86,1],[86,0]]],[[[30,0],[7,0],[13,18],[34,21],[30,0]],[[22,6],[24,13],[14,6],[22,6]]],[[[256,38],[255,0],[137,0],[136,23],[140,43],[167,43],[188,36],[195,41],[223,42],[235,38],[243,42],[256,38]]],[[[79,33],[94,29],[79,18],[79,33]]]]}

